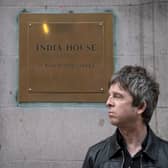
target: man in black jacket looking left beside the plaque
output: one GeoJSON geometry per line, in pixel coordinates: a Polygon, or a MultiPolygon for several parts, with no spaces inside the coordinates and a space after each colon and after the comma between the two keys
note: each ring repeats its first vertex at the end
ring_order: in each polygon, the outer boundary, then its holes
{"type": "Polygon", "coordinates": [[[89,148],[83,168],[168,168],[168,142],[149,127],[159,84],[140,66],[125,66],[109,83],[111,137],[89,148]]]}

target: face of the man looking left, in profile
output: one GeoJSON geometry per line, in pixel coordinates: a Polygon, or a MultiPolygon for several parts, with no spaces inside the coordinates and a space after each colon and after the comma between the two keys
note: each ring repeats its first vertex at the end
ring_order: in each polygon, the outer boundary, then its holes
{"type": "Polygon", "coordinates": [[[138,108],[132,106],[132,101],[130,93],[122,89],[118,83],[111,85],[106,105],[112,125],[128,127],[138,120],[138,108]]]}

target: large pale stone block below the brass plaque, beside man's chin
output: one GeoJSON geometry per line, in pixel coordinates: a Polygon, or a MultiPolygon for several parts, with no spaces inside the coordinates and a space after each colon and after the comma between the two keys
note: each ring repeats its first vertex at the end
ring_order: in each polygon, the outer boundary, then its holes
{"type": "Polygon", "coordinates": [[[114,130],[105,108],[1,109],[1,161],[82,160],[114,130]]]}

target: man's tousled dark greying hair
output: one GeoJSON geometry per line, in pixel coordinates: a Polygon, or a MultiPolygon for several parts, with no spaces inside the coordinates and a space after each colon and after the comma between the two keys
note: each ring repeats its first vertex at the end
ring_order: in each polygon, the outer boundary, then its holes
{"type": "Polygon", "coordinates": [[[149,123],[156,108],[159,96],[159,84],[141,66],[124,66],[114,73],[109,86],[118,83],[133,97],[133,106],[138,107],[146,102],[147,107],[142,113],[145,123],[149,123]]]}

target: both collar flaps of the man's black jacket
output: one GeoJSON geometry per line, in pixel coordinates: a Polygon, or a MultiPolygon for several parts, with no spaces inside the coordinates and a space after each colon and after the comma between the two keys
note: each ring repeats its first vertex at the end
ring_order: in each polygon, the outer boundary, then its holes
{"type": "MultiPolygon", "coordinates": [[[[143,153],[151,160],[155,161],[158,158],[158,148],[159,148],[158,137],[153,133],[151,128],[148,126],[148,138],[143,153]]],[[[121,152],[121,150],[122,148],[117,141],[117,130],[116,130],[115,133],[110,138],[109,158],[114,157],[116,154],[121,152]]]]}

